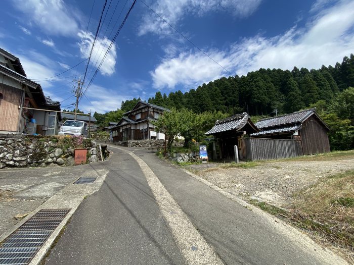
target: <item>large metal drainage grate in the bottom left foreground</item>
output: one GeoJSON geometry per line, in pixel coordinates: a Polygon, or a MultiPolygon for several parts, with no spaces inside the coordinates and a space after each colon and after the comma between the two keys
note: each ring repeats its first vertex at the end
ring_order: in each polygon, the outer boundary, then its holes
{"type": "Polygon", "coordinates": [[[42,209],[0,246],[0,265],[28,264],[70,209],[42,209]]]}

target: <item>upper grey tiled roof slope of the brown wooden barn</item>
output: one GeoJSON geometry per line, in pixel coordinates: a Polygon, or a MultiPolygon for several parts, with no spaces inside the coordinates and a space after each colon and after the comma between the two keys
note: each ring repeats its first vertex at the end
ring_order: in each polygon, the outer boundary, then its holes
{"type": "Polygon", "coordinates": [[[255,124],[255,126],[257,126],[258,129],[264,129],[264,128],[287,125],[292,123],[299,123],[299,122],[302,123],[304,120],[306,120],[309,116],[311,116],[314,113],[315,113],[315,109],[303,110],[291,114],[260,120],[255,124]]]}

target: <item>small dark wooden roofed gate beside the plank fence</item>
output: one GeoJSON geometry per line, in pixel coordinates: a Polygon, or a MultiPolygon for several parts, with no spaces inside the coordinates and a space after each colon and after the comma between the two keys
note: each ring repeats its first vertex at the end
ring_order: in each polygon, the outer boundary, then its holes
{"type": "Polygon", "coordinates": [[[248,114],[244,112],[216,121],[214,127],[205,135],[213,135],[216,139],[213,145],[214,160],[235,160],[235,145],[237,145],[239,157],[242,159],[242,135],[256,132],[259,130],[252,123],[248,114]]]}

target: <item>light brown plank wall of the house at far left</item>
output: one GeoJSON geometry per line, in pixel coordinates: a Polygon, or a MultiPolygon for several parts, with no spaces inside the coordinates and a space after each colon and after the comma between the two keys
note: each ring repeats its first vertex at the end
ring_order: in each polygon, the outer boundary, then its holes
{"type": "Polygon", "coordinates": [[[5,84],[0,84],[0,131],[17,132],[23,91],[5,84]]]}

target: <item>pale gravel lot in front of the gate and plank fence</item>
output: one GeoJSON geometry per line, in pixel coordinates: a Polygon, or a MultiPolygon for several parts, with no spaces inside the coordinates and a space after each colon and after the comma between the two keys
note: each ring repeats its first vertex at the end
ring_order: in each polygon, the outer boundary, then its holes
{"type": "Polygon", "coordinates": [[[354,158],[263,162],[251,168],[223,168],[223,164],[210,163],[187,169],[242,199],[257,199],[286,208],[294,192],[325,176],[353,170],[354,158]]]}

